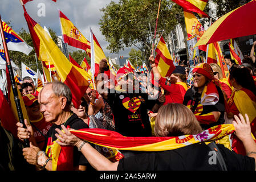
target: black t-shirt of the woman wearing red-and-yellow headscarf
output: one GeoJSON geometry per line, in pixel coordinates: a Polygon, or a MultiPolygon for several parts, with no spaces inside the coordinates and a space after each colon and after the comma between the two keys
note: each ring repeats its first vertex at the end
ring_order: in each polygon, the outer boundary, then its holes
{"type": "MultiPolygon", "coordinates": [[[[209,129],[210,127],[213,127],[216,125],[222,125],[225,122],[225,119],[224,119],[224,112],[225,112],[225,101],[224,100],[225,100],[225,98],[221,91],[221,88],[218,86],[216,86],[216,88],[217,88],[218,94],[219,94],[219,101],[215,105],[202,106],[202,111],[201,111],[200,115],[207,114],[207,113],[210,113],[213,111],[219,111],[221,113],[221,115],[217,122],[210,123],[209,125],[204,125],[201,123],[200,125],[201,125],[202,129],[204,129],[204,130],[209,129]]],[[[189,103],[192,102],[192,100],[193,100],[192,96],[193,96],[192,88],[190,88],[186,91],[183,104],[186,106],[190,105],[189,103]]],[[[199,101],[199,104],[200,104],[200,101],[199,101]]]]}

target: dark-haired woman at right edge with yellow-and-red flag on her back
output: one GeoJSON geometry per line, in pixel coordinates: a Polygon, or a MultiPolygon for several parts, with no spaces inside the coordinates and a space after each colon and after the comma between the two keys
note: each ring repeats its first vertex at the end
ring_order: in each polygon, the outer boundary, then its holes
{"type": "MultiPolygon", "coordinates": [[[[243,117],[248,115],[251,133],[256,137],[256,87],[253,77],[251,77],[249,69],[236,68],[230,73],[230,82],[235,91],[227,101],[229,106],[228,118],[233,118],[234,115],[241,113],[243,117]]],[[[238,154],[245,155],[245,150],[241,141],[233,138],[232,148],[238,154]]]]}

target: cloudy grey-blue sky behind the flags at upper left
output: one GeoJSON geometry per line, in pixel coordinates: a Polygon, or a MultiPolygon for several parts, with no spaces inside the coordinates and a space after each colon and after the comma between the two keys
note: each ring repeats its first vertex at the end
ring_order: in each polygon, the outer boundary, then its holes
{"type": "MultiPolygon", "coordinates": [[[[118,0],[113,0],[118,2],[118,0]]],[[[25,7],[27,13],[34,19],[40,26],[52,28],[56,31],[57,35],[62,35],[60,30],[60,21],[58,9],[62,11],[68,19],[79,29],[80,32],[90,41],[90,27],[94,32],[100,46],[106,56],[117,57],[116,54],[110,54],[106,48],[108,42],[105,41],[104,36],[101,35],[99,30],[99,20],[101,19],[101,11],[103,7],[107,6],[111,0],[34,0],[26,3],[25,7]],[[46,16],[38,16],[39,5],[44,3],[46,7],[46,16]]],[[[28,31],[27,23],[23,15],[24,11],[19,0],[2,0],[0,6],[0,14],[4,21],[11,21],[14,31],[18,32],[21,28],[28,31]]],[[[119,52],[119,56],[128,56],[131,48],[125,48],[124,51],[119,52]]]]}

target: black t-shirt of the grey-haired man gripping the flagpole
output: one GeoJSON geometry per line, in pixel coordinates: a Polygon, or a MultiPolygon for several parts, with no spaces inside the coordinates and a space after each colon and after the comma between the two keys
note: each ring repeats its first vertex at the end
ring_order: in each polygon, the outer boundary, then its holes
{"type": "MultiPolygon", "coordinates": [[[[70,127],[71,129],[75,129],[75,130],[89,128],[88,125],[82,119],[78,118],[76,114],[72,114],[71,117],[68,118],[67,121],[62,125],[64,125],[65,127],[70,127]]],[[[51,145],[51,142],[57,139],[57,137],[55,136],[55,134],[58,133],[57,131],[55,131],[55,129],[57,128],[62,130],[61,125],[53,124],[50,130],[48,131],[47,133],[48,142],[44,147],[45,149],[47,146],[51,145]]],[[[90,164],[88,163],[87,159],[84,157],[82,152],[79,152],[78,148],[74,147],[74,166],[79,166],[79,165],[90,166],[90,164]]]]}

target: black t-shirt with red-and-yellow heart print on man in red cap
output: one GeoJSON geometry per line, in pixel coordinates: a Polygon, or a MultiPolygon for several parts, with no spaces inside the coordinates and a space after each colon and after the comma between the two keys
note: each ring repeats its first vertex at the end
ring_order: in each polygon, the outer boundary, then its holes
{"type": "Polygon", "coordinates": [[[107,102],[113,112],[115,131],[126,137],[151,136],[148,109],[152,109],[156,100],[150,99],[146,93],[109,90],[107,102]]]}

